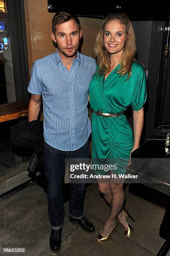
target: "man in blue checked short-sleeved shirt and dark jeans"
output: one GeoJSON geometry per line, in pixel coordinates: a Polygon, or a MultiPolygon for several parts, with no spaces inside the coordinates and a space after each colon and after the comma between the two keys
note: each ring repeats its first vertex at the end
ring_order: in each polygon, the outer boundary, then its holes
{"type": "MultiPolygon", "coordinates": [[[[48,216],[51,223],[50,248],[61,248],[64,205],[61,184],[65,158],[89,158],[88,90],[96,70],[94,59],[78,52],[82,35],[79,19],[60,11],[52,20],[51,37],[57,51],[37,60],[28,85],[31,99],[29,121],[37,120],[43,97],[44,163],[48,178],[48,216]]],[[[84,215],[85,184],[70,184],[69,220],[88,232],[94,225],[84,215]]]]}

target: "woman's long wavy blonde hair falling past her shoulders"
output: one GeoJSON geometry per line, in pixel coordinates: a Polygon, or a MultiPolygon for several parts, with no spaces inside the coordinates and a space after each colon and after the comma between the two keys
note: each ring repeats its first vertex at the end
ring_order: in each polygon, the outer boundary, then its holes
{"type": "Polygon", "coordinates": [[[134,35],[131,20],[129,20],[125,13],[109,13],[102,24],[101,30],[97,36],[94,52],[96,54],[96,61],[99,65],[99,74],[107,74],[111,71],[110,55],[104,47],[104,31],[105,26],[112,20],[119,20],[120,24],[124,26],[126,32],[126,41],[124,45],[123,55],[120,59],[120,69],[117,74],[125,76],[128,73],[128,78],[131,75],[132,61],[136,54],[136,39],[134,35]]]}

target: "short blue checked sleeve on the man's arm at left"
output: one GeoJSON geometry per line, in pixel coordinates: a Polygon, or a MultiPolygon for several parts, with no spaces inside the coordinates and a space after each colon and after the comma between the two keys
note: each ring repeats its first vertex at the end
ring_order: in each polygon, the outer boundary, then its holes
{"type": "Polygon", "coordinates": [[[38,67],[36,62],[34,62],[31,69],[31,79],[27,88],[28,92],[35,95],[41,95],[43,90],[43,83],[41,82],[41,76],[38,72],[38,67]]]}

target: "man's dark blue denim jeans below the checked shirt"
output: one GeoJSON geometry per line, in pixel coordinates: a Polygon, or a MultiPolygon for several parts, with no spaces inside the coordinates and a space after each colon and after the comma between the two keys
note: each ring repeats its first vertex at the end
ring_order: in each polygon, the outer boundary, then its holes
{"type": "MultiPolygon", "coordinates": [[[[44,164],[48,179],[48,217],[53,229],[63,226],[65,216],[62,182],[66,158],[89,158],[89,141],[75,151],[61,151],[44,142],[44,164]]],[[[81,219],[84,212],[85,184],[70,184],[69,211],[73,218],[81,219]]]]}

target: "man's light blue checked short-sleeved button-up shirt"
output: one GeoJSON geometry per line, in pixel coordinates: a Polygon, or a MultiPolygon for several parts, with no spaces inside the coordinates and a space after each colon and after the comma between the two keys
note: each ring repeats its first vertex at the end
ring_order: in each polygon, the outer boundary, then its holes
{"type": "Polygon", "coordinates": [[[73,151],[88,140],[88,92],[95,71],[94,59],[79,52],[70,71],[58,51],[34,62],[28,92],[43,97],[44,140],[53,148],[73,151]]]}

